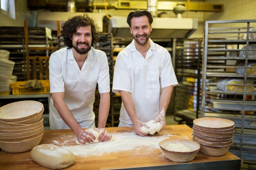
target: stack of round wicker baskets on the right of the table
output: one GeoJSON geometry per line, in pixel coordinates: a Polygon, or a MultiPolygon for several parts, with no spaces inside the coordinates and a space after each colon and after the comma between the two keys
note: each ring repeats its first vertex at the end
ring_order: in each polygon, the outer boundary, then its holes
{"type": "Polygon", "coordinates": [[[201,145],[205,155],[224,155],[234,139],[234,122],[216,117],[203,117],[193,121],[193,140],[201,145]]]}

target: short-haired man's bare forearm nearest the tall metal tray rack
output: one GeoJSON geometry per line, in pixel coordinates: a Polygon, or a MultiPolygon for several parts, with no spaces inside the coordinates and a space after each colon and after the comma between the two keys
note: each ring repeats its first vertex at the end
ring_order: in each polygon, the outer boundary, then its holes
{"type": "Polygon", "coordinates": [[[165,88],[162,88],[161,90],[161,96],[159,101],[159,113],[164,109],[164,112],[166,112],[168,105],[171,100],[171,95],[173,92],[173,86],[167,86],[165,88]]]}

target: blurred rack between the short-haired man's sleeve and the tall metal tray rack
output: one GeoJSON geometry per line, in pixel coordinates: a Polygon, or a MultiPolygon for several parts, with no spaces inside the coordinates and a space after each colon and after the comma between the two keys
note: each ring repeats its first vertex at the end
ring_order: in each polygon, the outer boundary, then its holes
{"type": "Polygon", "coordinates": [[[201,116],[202,38],[177,39],[175,42],[174,119],[188,126],[201,116]]]}

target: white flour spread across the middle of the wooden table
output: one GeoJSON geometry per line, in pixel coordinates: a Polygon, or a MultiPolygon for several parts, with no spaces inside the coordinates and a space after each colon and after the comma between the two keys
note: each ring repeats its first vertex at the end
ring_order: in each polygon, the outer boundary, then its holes
{"type": "MultiPolygon", "coordinates": [[[[54,141],[54,144],[57,144],[61,148],[69,150],[74,155],[79,155],[83,157],[90,156],[100,156],[103,154],[109,154],[111,152],[126,152],[134,150],[133,154],[141,154],[139,149],[146,147],[147,151],[145,154],[147,156],[154,156],[152,152],[155,149],[160,149],[159,142],[168,139],[168,136],[146,136],[141,137],[132,132],[115,132],[111,133],[115,137],[114,141],[99,142],[97,144],[88,144],[88,145],[65,145],[62,142],[54,141]],[[152,150],[150,152],[150,150],[152,150]]],[[[77,138],[74,137],[70,141],[74,141],[77,138]]],[[[74,144],[74,143],[73,143],[74,144]]]]}

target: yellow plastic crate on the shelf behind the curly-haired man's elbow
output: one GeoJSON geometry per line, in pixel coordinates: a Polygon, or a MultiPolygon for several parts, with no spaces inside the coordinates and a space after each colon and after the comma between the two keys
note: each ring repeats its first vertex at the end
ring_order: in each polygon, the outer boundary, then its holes
{"type": "Polygon", "coordinates": [[[13,95],[32,95],[32,94],[47,94],[50,93],[50,82],[49,80],[38,80],[42,83],[42,89],[30,89],[25,88],[27,81],[18,81],[11,83],[11,90],[13,95]]]}

